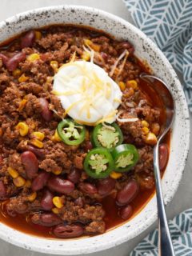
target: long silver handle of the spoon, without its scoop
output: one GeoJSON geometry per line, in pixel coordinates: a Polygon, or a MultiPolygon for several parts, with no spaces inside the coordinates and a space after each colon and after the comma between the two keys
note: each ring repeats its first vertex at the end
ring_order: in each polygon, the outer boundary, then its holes
{"type": "Polygon", "coordinates": [[[166,210],[162,197],[161,176],[158,161],[158,144],[154,146],[154,178],[158,205],[158,255],[174,256],[174,246],[170,238],[170,230],[167,224],[166,210]]]}

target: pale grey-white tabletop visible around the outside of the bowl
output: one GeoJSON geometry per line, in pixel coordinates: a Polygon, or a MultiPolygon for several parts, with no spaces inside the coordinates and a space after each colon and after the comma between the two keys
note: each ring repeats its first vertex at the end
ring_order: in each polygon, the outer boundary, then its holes
{"type": "MultiPolygon", "coordinates": [[[[0,0],[0,21],[8,18],[19,12],[30,10],[42,6],[55,6],[62,4],[91,6],[106,10],[119,17],[125,18],[127,21],[132,22],[130,14],[121,0],[0,0]]],[[[0,35],[1,36],[1,35],[0,35]]],[[[190,125],[192,127],[192,114],[190,114],[190,125]]],[[[192,128],[190,128],[192,131],[192,128]]],[[[190,149],[192,148],[192,140],[190,141],[190,149]]],[[[173,177],[174,178],[174,177],[173,177]]],[[[174,196],[173,201],[166,207],[168,218],[173,218],[175,214],[180,213],[182,210],[192,207],[192,154],[189,153],[188,161],[186,162],[186,169],[183,174],[182,182],[174,196]]],[[[125,242],[120,246],[116,246],[109,250],[102,252],[87,254],[87,256],[128,256],[130,250],[134,248],[148,234],[150,230],[155,228],[156,224],[150,226],[146,232],[134,238],[130,242],[125,242]]],[[[38,254],[28,250],[18,248],[0,240],[0,256],[45,256],[46,254],[38,254]]]]}

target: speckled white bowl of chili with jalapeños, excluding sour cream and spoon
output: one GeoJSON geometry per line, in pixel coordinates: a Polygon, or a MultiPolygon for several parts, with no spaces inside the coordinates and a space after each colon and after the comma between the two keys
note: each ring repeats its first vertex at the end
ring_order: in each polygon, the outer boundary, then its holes
{"type": "Polygon", "coordinates": [[[186,99],[166,57],[129,22],[85,6],[30,10],[1,22],[0,29],[1,238],[28,250],[70,255],[141,234],[157,219],[151,150],[164,118],[158,95],[138,79],[142,71],[163,78],[176,103],[174,127],[160,148],[166,154],[160,160],[166,205],[189,150],[186,99]],[[73,59],[71,50],[85,61],[94,50],[94,62],[122,79],[116,82],[124,100],[114,123],[91,128],[70,117],[61,120],[49,88],[58,68],[73,59]],[[126,63],[125,81],[115,59],[126,63]],[[130,114],[137,126],[127,125],[130,114]]]}

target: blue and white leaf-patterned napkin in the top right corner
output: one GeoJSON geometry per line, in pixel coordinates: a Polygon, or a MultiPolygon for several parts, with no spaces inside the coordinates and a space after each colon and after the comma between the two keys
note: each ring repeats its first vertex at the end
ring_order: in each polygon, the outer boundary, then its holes
{"type": "MultiPolygon", "coordinates": [[[[136,26],[164,52],[183,75],[192,111],[192,0],[123,0],[136,26]]],[[[192,255],[192,254],[191,254],[192,255]]]]}

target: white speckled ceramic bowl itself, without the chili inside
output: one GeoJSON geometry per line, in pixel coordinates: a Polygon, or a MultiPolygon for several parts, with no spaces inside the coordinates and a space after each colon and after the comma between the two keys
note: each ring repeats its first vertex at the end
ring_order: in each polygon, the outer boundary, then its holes
{"type": "MultiPolygon", "coordinates": [[[[154,74],[170,86],[176,102],[176,118],[171,134],[170,160],[162,178],[165,203],[171,201],[178,189],[185,167],[190,142],[189,114],[182,86],[173,67],[161,50],[140,30],[112,14],[83,6],[54,6],[18,14],[0,23],[0,41],[25,30],[50,24],[80,24],[113,34],[115,38],[129,40],[135,46],[138,58],[146,60],[154,74]]],[[[47,254],[88,254],[104,250],[134,238],[157,219],[156,198],[126,224],[105,234],[91,238],[71,240],[46,239],[30,236],[0,224],[0,238],[17,246],[47,254]]]]}

